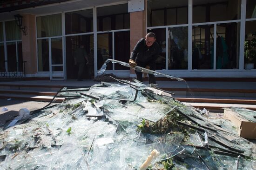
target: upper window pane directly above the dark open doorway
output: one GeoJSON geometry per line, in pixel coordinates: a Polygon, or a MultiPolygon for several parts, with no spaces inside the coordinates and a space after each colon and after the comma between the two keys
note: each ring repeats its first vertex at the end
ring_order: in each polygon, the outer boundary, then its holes
{"type": "Polygon", "coordinates": [[[93,9],[65,13],[66,34],[93,32],[93,9]]]}

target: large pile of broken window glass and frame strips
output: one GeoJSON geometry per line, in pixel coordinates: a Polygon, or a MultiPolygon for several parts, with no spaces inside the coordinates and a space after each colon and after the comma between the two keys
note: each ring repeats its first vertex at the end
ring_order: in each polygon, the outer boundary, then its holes
{"type": "Polygon", "coordinates": [[[232,125],[222,128],[156,85],[115,81],[62,88],[54,98],[62,103],[2,127],[1,169],[255,168],[254,145],[232,125]]]}

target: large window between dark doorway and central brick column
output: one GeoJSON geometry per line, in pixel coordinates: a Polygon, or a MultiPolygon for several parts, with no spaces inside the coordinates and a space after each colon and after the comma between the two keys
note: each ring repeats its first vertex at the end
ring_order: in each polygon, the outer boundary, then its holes
{"type": "MultiPolygon", "coordinates": [[[[97,8],[97,69],[107,59],[128,62],[130,57],[130,14],[128,4],[97,8]]],[[[108,63],[107,70],[128,70],[108,63]]]]}

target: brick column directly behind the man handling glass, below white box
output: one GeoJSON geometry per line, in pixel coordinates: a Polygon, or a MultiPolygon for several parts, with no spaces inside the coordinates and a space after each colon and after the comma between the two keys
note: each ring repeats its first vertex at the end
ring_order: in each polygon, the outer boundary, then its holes
{"type": "MultiPolygon", "coordinates": [[[[146,5],[147,0],[145,0],[144,11],[130,13],[130,52],[132,52],[138,40],[146,35],[146,5]]],[[[130,69],[130,77],[136,77],[134,74],[134,70],[130,69]]]]}

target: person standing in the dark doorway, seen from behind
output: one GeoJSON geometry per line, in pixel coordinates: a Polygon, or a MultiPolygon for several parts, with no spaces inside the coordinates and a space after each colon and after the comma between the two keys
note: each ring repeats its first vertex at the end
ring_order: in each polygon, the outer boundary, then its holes
{"type": "Polygon", "coordinates": [[[78,65],[77,81],[82,81],[84,66],[88,64],[87,52],[84,49],[84,45],[80,45],[80,47],[74,52],[74,64],[78,65]]]}

